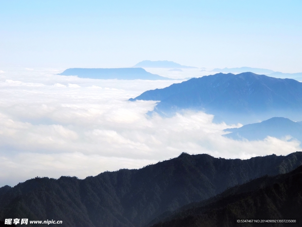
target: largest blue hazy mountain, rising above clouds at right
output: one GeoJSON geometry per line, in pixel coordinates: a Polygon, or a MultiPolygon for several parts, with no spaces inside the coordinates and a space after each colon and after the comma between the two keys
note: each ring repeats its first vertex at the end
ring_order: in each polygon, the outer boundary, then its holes
{"type": "Polygon", "coordinates": [[[254,123],[271,117],[300,120],[302,83],[252,72],[218,73],[192,78],[163,89],[149,90],[133,100],[160,101],[154,111],[171,116],[182,109],[203,110],[215,120],[254,123]]]}

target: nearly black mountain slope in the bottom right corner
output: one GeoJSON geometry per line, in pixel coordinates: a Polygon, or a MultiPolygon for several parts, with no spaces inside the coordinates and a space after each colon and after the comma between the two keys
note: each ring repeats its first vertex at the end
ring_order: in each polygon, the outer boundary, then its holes
{"type": "Polygon", "coordinates": [[[302,226],[302,166],[234,186],[202,202],[166,212],[153,227],[302,226]],[[296,225],[239,223],[237,220],[296,220],[296,225]]]}

